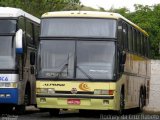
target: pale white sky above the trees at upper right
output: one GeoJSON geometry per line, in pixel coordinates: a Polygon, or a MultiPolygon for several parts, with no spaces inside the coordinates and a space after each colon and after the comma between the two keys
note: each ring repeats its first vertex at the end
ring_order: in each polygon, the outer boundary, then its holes
{"type": "Polygon", "coordinates": [[[155,5],[160,4],[160,0],[80,0],[81,3],[85,6],[99,8],[103,7],[106,10],[113,8],[122,8],[126,7],[130,11],[134,11],[134,4],[142,5],[155,5]]]}

